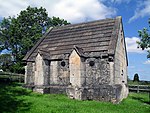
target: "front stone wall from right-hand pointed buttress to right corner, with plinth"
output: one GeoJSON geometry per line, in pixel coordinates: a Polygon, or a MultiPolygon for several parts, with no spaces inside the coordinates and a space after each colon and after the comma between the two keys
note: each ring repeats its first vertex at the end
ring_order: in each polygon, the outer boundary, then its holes
{"type": "Polygon", "coordinates": [[[73,51],[69,64],[71,84],[67,87],[67,95],[70,98],[114,103],[121,100],[123,87],[113,84],[114,62],[108,57],[82,58],[73,51]]]}

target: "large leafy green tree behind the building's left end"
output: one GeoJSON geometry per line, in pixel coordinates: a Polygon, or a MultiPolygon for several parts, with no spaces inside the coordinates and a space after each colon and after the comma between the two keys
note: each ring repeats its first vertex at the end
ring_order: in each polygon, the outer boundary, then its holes
{"type": "Polygon", "coordinates": [[[0,52],[8,50],[19,67],[25,54],[35,45],[50,26],[70,24],[59,17],[48,17],[45,8],[27,7],[15,17],[0,23],[0,52]]]}

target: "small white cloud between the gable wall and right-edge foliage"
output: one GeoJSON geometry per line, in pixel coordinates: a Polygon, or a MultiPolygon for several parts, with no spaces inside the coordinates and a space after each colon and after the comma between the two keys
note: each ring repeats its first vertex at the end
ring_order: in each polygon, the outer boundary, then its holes
{"type": "Polygon", "coordinates": [[[126,37],[126,47],[127,47],[127,52],[130,53],[146,53],[145,50],[142,50],[141,48],[137,48],[137,41],[140,41],[140,39],[138,37],[126,37]]]}

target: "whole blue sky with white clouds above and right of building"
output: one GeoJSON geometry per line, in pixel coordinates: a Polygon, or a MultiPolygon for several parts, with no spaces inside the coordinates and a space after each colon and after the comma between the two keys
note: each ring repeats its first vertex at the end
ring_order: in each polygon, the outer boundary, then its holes
{"type": "Polygon", "coordinates": [[[150,0],[0,0],[0,20],[17,16],[28,6],[46,8],[49,17],[66,19],[72,24],[122,16],[128,54],[128,76],[138,73],[150,81],[150,59],[137,48],[138,30],[148,28],[150,0]]]}

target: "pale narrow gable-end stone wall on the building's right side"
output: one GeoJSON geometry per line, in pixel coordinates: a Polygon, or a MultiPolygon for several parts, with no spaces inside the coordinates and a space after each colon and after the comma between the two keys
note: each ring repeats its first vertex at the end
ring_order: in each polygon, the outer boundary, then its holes
{"type": "Polygon", "coordinates": [[[123,99],[128,95],[128,86],[127,86],[127,57],[125,50],[125,39],[122,30],[122,24],[120,24],[120,31],[118,34],[117,47],[115,50],[114,57],[114,84],[121,84],[121,97],[123,99]]]}

